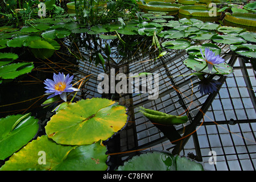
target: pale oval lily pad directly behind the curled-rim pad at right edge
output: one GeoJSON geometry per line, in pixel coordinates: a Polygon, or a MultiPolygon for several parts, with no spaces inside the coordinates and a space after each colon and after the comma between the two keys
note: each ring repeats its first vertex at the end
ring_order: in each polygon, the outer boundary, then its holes
{"type": "Polygon", "coordinates": [[[228,35],[214,35],[211,38],[213,42],[222,44],[240,44],[246,43],[246,40],[239,36],[228,36],[228,35]]]}

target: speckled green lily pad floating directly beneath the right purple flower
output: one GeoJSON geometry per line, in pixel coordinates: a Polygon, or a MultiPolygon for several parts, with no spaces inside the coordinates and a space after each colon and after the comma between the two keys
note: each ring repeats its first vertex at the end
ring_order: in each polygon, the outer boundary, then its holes
{"type": "Polygon", "coordinates": [[[188,67],[193,69],[196,72],[204,72],[209,74],[220,74],[220,75],[228,75],[233,72],[233,68],[227,64],[227,63],[221,63],[218,64],[218,67],[215,67],[217,71],[212,69],[212,73],[209,72],[208,67],[205,67],[207,65],[206,61],[197,61],[195,58],[199,58],[197,56],[188,56],[188,59],[184,60],[183,63],[188,67]],[[204,69],[203,69],[204,68],[204,69]]]}

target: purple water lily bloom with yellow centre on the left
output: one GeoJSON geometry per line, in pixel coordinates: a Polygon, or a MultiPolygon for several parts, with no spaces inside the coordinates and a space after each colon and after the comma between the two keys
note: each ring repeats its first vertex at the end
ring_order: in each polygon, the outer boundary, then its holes
{"type": "Polygon", "coordinates": [[[63,73],[56,75],[53,73],[53,80],[46,79],[44,84],[46,85],[46,93],[52,93],[47,98],[52,98],[54,96],[60,95],[60,98],[67,102],[67,92],[79,91],[79,89],[72,87],[73,75],[69,77],[69,74],[65,76],[63,73]]]}

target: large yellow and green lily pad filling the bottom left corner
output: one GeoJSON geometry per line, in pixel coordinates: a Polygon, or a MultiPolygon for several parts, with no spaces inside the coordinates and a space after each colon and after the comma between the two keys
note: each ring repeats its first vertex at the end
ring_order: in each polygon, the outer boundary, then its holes
{"type": "Polygon", "coordinates": [[[57,144],[46,135],[16,152],[0,171],[77,171],[106,170],[108,155],[100,141],[84,146],[57,144]]]}

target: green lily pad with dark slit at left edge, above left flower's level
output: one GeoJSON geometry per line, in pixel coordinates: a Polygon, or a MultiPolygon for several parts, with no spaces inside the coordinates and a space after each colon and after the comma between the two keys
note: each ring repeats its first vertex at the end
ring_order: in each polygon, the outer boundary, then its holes
{"type": "Polygon", "coordinates": [[[34,68],[33,63],[13,63],[0,67],[1,79],[14,79],[20,75],[29,73],[34,68]]]}

